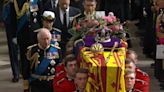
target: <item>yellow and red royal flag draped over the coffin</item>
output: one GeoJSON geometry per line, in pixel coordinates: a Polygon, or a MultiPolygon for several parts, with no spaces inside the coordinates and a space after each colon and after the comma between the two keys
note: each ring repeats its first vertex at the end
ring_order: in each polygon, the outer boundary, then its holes
{"type": "Polygon", "coordinates": [[[125,92],[124,68],[126,48],[93,53],[84,47],[80,51],[81,68],[89,69],[87,92],[125,92]],[[110,56],[108,59],[107,57],[110,56]]]}

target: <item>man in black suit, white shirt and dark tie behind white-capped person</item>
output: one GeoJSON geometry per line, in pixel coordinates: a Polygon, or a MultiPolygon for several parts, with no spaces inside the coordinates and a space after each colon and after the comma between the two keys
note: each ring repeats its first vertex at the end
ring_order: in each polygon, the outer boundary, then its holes
{"type": "Polygon", "coordinates": [[[72,27],[74,18],[80,14],[80,10],[70,6],[70,0],[59,0],[58,7],[55,8],[56,20],[54,27],[62,30],[61,33],[61,50],[62,56],[65,53],[66,43],[71,38],[68,29],[72,27]]]}

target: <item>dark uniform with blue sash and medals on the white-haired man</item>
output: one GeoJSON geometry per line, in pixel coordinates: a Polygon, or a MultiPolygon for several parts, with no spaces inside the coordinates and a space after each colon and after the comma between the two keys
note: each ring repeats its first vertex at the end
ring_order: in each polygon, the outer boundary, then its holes
{"type": "Polygon", "coordinates": [[[58,47],[53,45],[44,50],[38,44],[28,48],[26,79],[30,84],[31,92],[53,92],[55,67],[59,63],[58,51],[58,47]]]}

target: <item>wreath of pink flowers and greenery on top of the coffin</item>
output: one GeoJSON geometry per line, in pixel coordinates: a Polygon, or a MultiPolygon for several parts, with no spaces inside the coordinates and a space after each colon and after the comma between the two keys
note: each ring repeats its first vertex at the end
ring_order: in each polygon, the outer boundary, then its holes
{"type": "Polygon", "coordinates": [[[109,12],[108,16],[102,16],[98,19],[86,18],[79,19],[78,22],[69,29],[72,39],[83,38],[86,35],[96,36],[96,30],[105,29],[111,30],[111,37],[120,39],[125,38],[128,30],[125,23],[120,23],[120,20],[114,16],[113,12],[109,12]]]}

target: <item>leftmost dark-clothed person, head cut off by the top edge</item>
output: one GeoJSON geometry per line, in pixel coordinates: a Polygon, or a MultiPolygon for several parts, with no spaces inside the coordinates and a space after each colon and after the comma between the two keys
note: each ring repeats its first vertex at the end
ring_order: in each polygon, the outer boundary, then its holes
{"type": "MultiPolygon", "coordinates": [[[[3,5],[2,5],[3,6],[3,5]]],[[[18,48],[16,44],[16,12],[14,3],[8,1],[3,7],[3,21],[6,29],[8,51],[13,74],[12,82],[18,82],[20,66],[18,61],[18,48]]]]}

